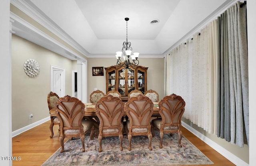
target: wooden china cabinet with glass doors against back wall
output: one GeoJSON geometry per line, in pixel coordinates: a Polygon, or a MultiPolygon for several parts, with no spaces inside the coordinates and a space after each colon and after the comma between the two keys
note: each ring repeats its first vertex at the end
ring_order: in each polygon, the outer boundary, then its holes
{"type": "Polygon", "coordinates": [[[116,90],[121,94],[122,101],[128,101],[128,94],[134,89],[143,94],[147,90],[148,67],[135,66],[125,69],[117,65],[105,67],[106,70],[106,93],[116,90]]]}

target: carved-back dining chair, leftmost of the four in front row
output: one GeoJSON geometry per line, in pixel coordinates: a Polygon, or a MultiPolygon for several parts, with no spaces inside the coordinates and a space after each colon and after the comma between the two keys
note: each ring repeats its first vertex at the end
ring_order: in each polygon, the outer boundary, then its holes
{"type": "Polygon", "coordinates": [[[82,152],[84,149],[84,135],[90,132],[90,139],[93,139],[93,123],[84,119],[85,105],[79,99],[66,95],[60,98],[55,105],[56,115],[60,119],[60,152],[64,152],[64,138],[80,137],[82,152]]]}

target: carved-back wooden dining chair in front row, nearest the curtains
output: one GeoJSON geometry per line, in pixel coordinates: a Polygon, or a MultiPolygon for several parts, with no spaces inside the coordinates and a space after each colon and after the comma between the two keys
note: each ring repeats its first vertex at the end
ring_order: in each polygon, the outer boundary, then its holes
{"type": "Polygon", "coordinates": [[[152,120],[152,134],[154,128],[160,132],[160,148],[164,134],[178,133],[178,145],[182,147],[181,117],[185,111],[185,101],[175,94],[164,97],[158,104],[161,118],[152,120]]]}

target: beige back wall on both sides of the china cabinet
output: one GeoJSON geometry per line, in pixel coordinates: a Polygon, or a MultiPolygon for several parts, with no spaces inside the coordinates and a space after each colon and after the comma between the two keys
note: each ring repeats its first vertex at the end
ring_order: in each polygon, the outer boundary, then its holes
{"type": "MultiPolygon", "coordinates": [[[[106,93],[106,71],[104,76],[92,76],[92,67],[109,67],[116,65],[116,57],[113,58],[88,58],[88,94],[87,100],[90,102],[90,94],[97,88],[106,93]]],[[[139,65],[148,67],[148,87],[159,94],[159,99],[164,97],[164,58],[139,58],[139,65]]]]}

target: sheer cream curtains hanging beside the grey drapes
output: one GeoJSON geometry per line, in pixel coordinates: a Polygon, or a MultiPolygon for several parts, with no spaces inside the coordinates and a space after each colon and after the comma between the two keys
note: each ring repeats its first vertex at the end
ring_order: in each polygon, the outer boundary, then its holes
{"type": "Polygon", "coordinates": [[[180,95],[186,102],[183,117],[216,134],[216,42],[214,20],[174,48],[166,57],[170,86],[167,94],[180,95]],[[186,43],[186,44],[185,44],[186,43]]]}

